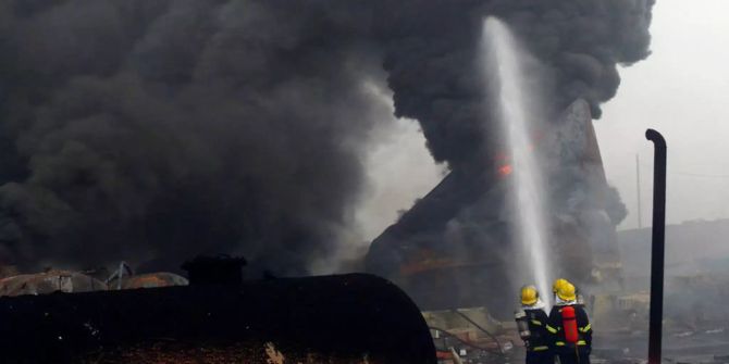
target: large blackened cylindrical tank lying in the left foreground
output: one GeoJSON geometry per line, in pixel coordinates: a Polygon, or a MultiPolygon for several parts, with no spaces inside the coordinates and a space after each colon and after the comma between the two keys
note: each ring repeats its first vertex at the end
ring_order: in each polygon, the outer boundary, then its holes
{"type": "Polygon", "coordinates": [[[428,326],[367,274],[0,298],[3,363],[435,363],[428,326]]]}

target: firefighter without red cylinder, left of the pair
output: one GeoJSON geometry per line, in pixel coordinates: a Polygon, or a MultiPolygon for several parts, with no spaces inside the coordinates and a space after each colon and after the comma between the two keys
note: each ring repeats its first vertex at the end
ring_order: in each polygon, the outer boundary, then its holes
{"type": "Polygon", "coordinates": [[[546,331],[547,315],[534,286],[521,288],[521,310],[515,314],[519,336],[527,348],[527,364],[554,364],[546,331]]]}

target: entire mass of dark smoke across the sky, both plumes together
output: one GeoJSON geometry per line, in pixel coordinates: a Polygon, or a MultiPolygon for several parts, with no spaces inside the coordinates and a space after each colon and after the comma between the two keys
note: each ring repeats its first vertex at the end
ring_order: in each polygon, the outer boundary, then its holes
{"type": "Polygon", "coordinates": [[[0,258],[30,267],[240,252],[301,273],[335,249],[394,92],[437,161],[489,150],[486,14],[554,71],[555,109],[615,95],[653,0],[8,0],[0,258]]]}

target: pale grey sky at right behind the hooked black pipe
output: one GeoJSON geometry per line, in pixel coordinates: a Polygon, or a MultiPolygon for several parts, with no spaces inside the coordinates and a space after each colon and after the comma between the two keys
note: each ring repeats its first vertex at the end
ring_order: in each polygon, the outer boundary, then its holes
{"type": "Polygon", "coordinates": [[[618,95],[595,122],[607,177],[638,225],[635,154],[641,159],[643,225],[651,223],[653,147],[668,142],[668,223],[729,217],[729,1],[663,0],[654,8],[653,54],[622,68],[618,95]]]}

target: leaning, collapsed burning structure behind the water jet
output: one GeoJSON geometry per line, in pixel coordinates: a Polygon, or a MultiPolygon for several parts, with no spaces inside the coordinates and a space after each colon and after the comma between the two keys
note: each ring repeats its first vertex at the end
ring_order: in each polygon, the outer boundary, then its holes
{"type": "MultiPolygon", "coordinates": [[[[546,156],[553,206],[545,259],[558,263],[558,276],[588,284],[607,274],[617,281],[615,226],[625,206],[605,179],[588,103],[573,102],[556,125],[534,147],[546,156]]],[[[372,242],[368,268],[403,285],[423,307],[508,311],[512,299],[491,289],[527,277],[515,266],[504,201],[511,166],[504,163],[453,171],[372,242]]]]}

